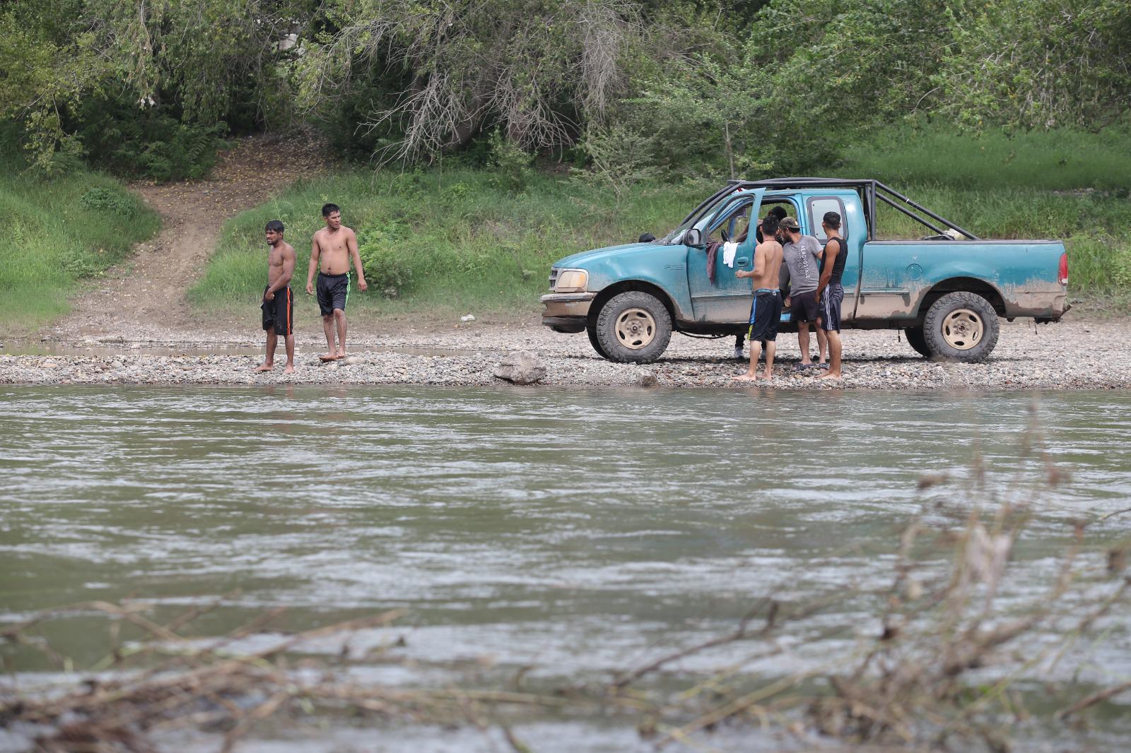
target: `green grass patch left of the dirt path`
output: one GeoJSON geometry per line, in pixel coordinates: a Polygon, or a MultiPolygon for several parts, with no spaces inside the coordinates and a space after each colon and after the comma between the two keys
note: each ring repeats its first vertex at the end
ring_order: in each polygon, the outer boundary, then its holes
{"type": "Polygon", "coordinates": [[[119,181],[88,171],[43,180],[0,154],[0,335],[28,335],[69,311],[68,295],[159,227],[119,181]]]}

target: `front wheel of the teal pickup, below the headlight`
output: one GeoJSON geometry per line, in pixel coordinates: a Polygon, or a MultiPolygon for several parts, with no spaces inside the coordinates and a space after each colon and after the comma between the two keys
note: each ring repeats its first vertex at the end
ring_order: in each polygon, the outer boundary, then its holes
{"type": "Polygon", "coordinates": [[[672,317],[659,298],[642,291],[614,295],[597,314],[602,353],[618,363],[651,363],[672,339],[672,317]]]}

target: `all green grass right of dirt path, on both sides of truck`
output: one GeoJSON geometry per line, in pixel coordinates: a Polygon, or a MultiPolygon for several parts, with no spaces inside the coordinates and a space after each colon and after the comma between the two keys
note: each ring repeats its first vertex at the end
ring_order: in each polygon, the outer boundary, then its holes
{"type": "MultiPolygon", "coordinates": [[[[1126,300],[1131,292],[1125,131],[975,140],[941,129],[893,130],[851,149],[836,172],[879,178],[983,237],[1063,240],[1076,297],[1126,300]],[[1093,185],[1105,188],[1085,190],[1093,185]]],[[[485,171],[343,172],[296,184],[231,219],[191,295],[202,309],[256,305],[266,277],[262,228],[273,218],[286,224],[297,251],[294,285],[301,289],[310,236],[322,226],[319,209],[334,201],[359,233],[371,285],[351,308],[405,314],[532,310],[555,259],[631,242],[645,231],[662,235],[713,188],[641,188],[618,206],[606,190],[550,174],[513,193],[485,171]],[[390,288],[396,297],[383,295],[390,288]]],[[[927,233],[886,207],[879,223],[884,237],[927,233]]],[[[301,318],[317,310],[313,301],[300,308],[310,310],[301,318]]]]}

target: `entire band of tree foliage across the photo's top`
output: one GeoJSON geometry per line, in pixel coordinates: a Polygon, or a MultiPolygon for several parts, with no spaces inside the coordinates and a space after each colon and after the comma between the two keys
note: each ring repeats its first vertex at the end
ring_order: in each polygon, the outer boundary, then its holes
{"type": "Polygon", "coordinates": [[[0,113],[49,171],[175,173],[201,135],[307,122],[379,161],[501,133],[607,174],[751,174],[905,118],[1098,129],[1128,38],[1124,0],[9,0],[0,113]]]}

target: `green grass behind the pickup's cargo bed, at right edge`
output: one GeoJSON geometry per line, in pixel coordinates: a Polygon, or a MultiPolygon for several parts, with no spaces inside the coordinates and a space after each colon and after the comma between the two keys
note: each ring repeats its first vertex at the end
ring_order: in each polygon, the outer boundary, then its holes
{"type": "MultiPolygon", "coordinates": [[[[877,178],[983,237],[1056,239],[1076,298],[1131,297],[1131,129],[981,137],[892,129],[848,150],[839,175],[877,178]]],[[[888,207],[883,237],[926,228],[888,207]]]]}

